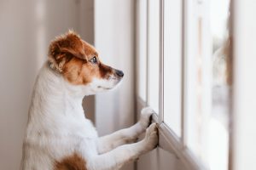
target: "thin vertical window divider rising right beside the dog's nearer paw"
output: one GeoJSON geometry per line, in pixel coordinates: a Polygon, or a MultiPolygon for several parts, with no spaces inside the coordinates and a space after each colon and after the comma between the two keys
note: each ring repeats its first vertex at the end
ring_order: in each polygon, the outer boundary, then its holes
{"type": "Polygon", "coordinates": [[[159,124],[164,122],[164,0],[160,0],[160,88],[159,88],[159,124]]]}

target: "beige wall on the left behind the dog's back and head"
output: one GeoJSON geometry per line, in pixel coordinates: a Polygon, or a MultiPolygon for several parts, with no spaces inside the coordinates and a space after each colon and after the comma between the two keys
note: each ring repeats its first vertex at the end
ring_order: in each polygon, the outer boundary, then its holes
{"type": "Polygon", "coordinates": [[[0,169],[16,170],[32,86],[49,41],[73,28],[93,42],[93,0],[2,0],[0,26],[0,169]]]}

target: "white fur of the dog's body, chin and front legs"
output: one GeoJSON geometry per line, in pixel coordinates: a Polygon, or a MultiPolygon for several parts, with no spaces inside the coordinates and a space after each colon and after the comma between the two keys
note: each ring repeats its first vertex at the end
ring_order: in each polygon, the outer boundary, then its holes
{"type": "Polygon", "coordinates": [[[54,162],[79,153],[88,170],[119,169],[127,161],[154,149],[157,127],[148,127],[151,110],[143,110],[140,122],[132,127],[99,138],[95,127],[85,118],[84,95],[113,88],[117,80],[94,80],[75,86],[46,63],[38,74],[32,95],[21,169],[54,169],[54,162]],[[148,127],[145,138],[134,144],[148,127]]]}

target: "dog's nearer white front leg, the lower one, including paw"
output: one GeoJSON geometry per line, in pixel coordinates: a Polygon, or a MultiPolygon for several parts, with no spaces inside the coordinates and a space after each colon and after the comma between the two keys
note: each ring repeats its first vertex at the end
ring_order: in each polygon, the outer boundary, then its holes
{"type": "Polygon", "coordinates": [[[133,161],[138,156],[153,150],[158,144],[158,130],[155,123],[148,127],[145,138],[135,144],[124,144],[105,154],[92,157],[86,162],[88,170],[119,169],[126,162],[133,161]]]}

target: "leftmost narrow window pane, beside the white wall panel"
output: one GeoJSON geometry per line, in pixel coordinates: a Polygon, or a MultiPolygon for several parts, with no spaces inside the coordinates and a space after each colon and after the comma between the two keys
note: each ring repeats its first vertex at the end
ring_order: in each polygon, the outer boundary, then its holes
{"type": "Polygon", "coordinates": [[[139,1],[138,5],[138,94],[141,99],[147,101],[147,0],[139,1]]]}

